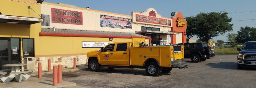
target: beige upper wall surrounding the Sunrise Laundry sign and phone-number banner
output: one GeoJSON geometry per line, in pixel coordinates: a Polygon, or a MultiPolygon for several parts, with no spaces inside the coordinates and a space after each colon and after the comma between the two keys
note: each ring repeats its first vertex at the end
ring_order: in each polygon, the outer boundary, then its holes
{"type": "MultiPolygon", "coordinates": [[[[58,5],[58,4],[56,4],[58,5]]],[[[99,30],[99,31],[115,31],[115,32],[130,32],[135,33],[134,24],[132,25],[132,29],[120,29],[120,28],[110,28],[110,27],[100,27],[100,15],[108,15],[108,16],[115,16],[115,17],[122,17],[131,19],[131,16],[123,16],[118,14],[111,14],[110,12],[100,12],[94,10],[87,10],[87,9],[78,9],[78,8],[71,8],[71,7],[62,7],[62,6],[55,6],[49,4],[41,4],[41,14],[50,15],[50,27],[49,26],[42,26],[46,28],[62,28],[62,29],[81,29],[81,30],[99,30]],[[78,11],[82,12],[83,14],[83,25],[75,25],[75,24],[63,24],[63,23],[52,23],[52,14],[51,8],[58,8],[64,10],[71,10],[71,11],[78,11]],[[64,25],[64,26],[63,26],[64,25]]]]}

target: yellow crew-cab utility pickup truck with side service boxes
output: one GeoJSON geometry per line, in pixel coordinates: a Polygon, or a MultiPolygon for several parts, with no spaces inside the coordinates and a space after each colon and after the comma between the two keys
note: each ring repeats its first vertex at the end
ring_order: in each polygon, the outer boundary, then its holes
{"type": "MultiPolygon", "coordinates": [[[[134,39],[133,39],[134,40],[134,39]]],[[[100,51],[87,53],[88,67],[97,71],[100,67],[145,68],[149,76],[156,76],[160,71],[170,72],[172,68],[183,66],[183,46],[143,46],[144,42],[115,42],[101,48],[100,51]]]]}

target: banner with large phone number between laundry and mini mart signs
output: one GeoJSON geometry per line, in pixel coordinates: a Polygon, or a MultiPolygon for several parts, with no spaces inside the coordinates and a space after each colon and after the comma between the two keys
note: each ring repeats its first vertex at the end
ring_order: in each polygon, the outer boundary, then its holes
{"type": "Polygon", "coordinates": [[[100,26],[132,29],[132,19],[100,15],[100,26]]]}

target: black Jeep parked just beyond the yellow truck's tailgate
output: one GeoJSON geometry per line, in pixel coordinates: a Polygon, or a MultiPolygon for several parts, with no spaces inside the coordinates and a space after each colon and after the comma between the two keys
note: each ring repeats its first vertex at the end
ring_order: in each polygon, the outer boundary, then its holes
{"type": "Polygon", "coordinates": [[[191,58],[192,62],[205,61],[207,57],[212,56],[211,47],[205,42],[180,43],[177,45],[184,45],[184,58],[191,58]]]}

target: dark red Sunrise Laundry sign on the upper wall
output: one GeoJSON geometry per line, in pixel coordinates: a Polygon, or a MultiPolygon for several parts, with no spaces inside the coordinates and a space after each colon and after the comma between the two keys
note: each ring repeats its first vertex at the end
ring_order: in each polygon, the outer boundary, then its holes
{"type": "Polygon", "coordinates": [[[83,25],[82,12],[52,8],[52,22],[83,25]]]}

